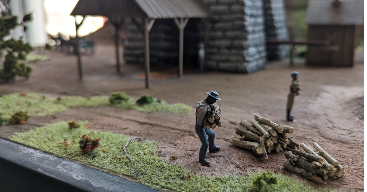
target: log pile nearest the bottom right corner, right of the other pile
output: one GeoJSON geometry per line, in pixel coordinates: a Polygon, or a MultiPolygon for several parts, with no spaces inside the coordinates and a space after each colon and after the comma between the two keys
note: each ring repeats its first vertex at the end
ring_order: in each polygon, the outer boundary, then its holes
{"type": "Polygon", "coordinates": [[[295,143],[295,149],[284,153],[289,162],[284,162],[284,169],[322,185],[329,177],[336,179],[345,173],[344,167],[319,144],[315,142],[313,146],[315,149],[295,143]]]}

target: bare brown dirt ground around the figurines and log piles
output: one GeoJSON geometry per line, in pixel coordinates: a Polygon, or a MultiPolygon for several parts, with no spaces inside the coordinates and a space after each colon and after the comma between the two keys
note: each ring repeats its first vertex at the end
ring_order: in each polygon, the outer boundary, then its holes
{"type": "MultiPolygon", "coordinates": [[[[363,62],[353,68],[309,68],[303,64],[289,68],[287,62],[270,62],[266,69],[252,74],[213,71],[199,75],[187,70],[182,80],[175,74],[166,80],[153,79],[151,88],[146,90],[144,79],[139,78],[143,74],[142,66],[123,64],[122,74],[117,74],[114,51],[112,44],[99,43],[97,54],[84,56],[83,81],[78,80],[76,57],[48,52],[50,61],[31,64],[34,72],[30,79],[19,78],[0,84],[1,93],[26,91],[91,96],[125,91],[133,97],[151,94],[168,103],[182,102],[194,108],[198,101],[206,98],[205,91],[215,90],[222,98],[218,104],[222,108],[223,126],[214,129],[215,144],[221,146],[221,151],[207,154],[211,167],[197,162],[201,143],[195,133],[194,111],[173,114],[114,107],[71,108],[54,115],[31,117],[23,125],[2,126],[0,135],[9,137],[17,131],[61,120],[87,120],[91,129],[156,141],[162,151],[159,155],[167,163],[182,164],[199,175],[246,174],[256,170],[288,174],[282,167],[286,162],[284,152],[269,154],[269,160],[264,161],[229,141],[239,128],[237,121],[249,122],[253,113],[258,112],[276,123],[294,127],[290,137],[307,145],[319,143],[345,167],[343,177],[327,181],[331,188],[364,191],[364,107],[360,108],[364,105],[363,62]],[[301,90],[291,112],[295,121],[286,122],[289,74],[294,70],[300,72],[301,90]],[[177,160],[170,161],[171,155],[177,155],[177,160]]],[[[299,178],[294,174],[290,176],[299,178]]],[[[310,181],[308,184],[318,186],[310,181]]]]}

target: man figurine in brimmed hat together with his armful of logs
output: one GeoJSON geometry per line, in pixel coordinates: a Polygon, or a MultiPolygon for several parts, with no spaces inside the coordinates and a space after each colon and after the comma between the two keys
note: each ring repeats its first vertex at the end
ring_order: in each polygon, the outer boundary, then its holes
{"type": "MultiPolygon", "coordinates": [[[[199,152],[199,162],[202,166],[210,167],[210,162],[206,160],[206,152],[209,147],[209,152],[217,152],[220,147],[214,144],[214,131],[211,127],[206,127],[204,124],[212,121],[212,124],[215,126],[219,125],[221,109],[219,105],[217,105],[216,101],[221,100],[219,95],[215,91],[211,91],[211,93],[206,92],[208,97],[204,100],[199,101],[196,106],[196,122],[195,122],[195,131],[200,138],[201,147],[199,152]],[[211,107],[210,107],[211,106],[211,107]],[[215,107],[215,108],[214,108],[215,107]],[[214,115],[215,114],[215,115],[214,115]],[[217,119],[218,117],[219,119],[217,119]],[[214,118],[213,119],[211,118],[214,118]],[[217,120],[217,122],[215,122],[217,120]],[[216,124],[218,123],[218,124],[216,124]]],[[[211,126],[211,125],[209,125],[211,126]]],[[[220,123],[220,126],[222,124],[220,123]]]]}

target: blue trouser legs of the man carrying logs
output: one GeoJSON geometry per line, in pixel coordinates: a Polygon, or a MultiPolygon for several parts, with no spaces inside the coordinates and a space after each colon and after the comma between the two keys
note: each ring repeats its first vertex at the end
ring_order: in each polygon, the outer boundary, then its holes
{"type": "Polygon", "coordinates": [[[195,126],[195,131],[201,141],[199,160],[204,160],[206,159],[206,152],[208,150],[208,147],[209,149],[215,148],[215,144],[214,144],[215,133],[212,129],[206,129],[204,126],[200,127],[197,124],[195,126]]]}

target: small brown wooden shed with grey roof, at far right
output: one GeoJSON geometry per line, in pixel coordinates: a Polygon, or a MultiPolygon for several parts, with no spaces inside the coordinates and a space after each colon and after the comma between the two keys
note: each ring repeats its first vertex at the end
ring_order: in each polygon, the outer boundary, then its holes
{"type": "Polygon", "coordinates": [[[363,25],[363,0],[310,0],[306,23],[309,40],[330,46],[309,47],[306,65],[352,67],[356,25],[363,25]]]}

